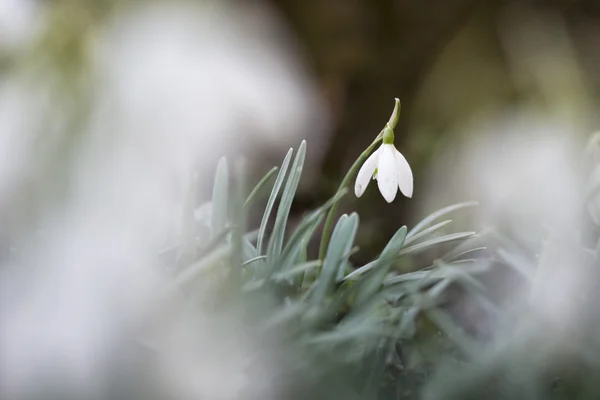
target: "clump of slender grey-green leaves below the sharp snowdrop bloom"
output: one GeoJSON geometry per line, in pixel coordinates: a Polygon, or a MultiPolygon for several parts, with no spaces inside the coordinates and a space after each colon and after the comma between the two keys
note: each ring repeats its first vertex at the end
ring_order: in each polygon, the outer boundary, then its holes
{"type": "Polygon", "coordinates": [[[287,397],[413,398],[437,360],[427,349],[455,352],[457,360],[471,350],[444,298],[451,286],[481,295],[472,276],[481,266],[470,259],[481,247],[474,232],[441,232],[448,214],[476,203],[436,211],[412,229],[400,226],[378,257],[359,266],[351,261],[359,216],[341,215],[324,257],[312,258],[308,243],[347,188],[288,229],[305,153],[305,142],[295,156],[290,149],[249,194],[243,165],[222,159],[212,200],[201,206],[209,212],[198,218],[192,185],[180,243],[162,255],[166,266],[175,265],[168,269],[170,289],[203,309],[210,303],[215,312],[238,313],[266,348],[279,349],[277,379],[287,382],[287,397]],[[265,200],[258,230],[248,231],[248,213],[265,200]],[[425,268],[397,268],[402,258],[457,241],[425,268]]]}

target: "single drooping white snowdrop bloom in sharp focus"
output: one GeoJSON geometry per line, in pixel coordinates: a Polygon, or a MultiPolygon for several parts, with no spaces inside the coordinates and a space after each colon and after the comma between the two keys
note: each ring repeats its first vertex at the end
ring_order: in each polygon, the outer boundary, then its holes
{"type": "Polygon", "coordinates": [[[406,158],[394,146],[394,131],[389,124],[383,132],[383,144],[358,171],[354,185],[356,197],[362,196],[371,178],[377,179],[379,191],[388,203],[394,201],[398,188],[406,197],[412,197],[412,171],[406,158]]]}

